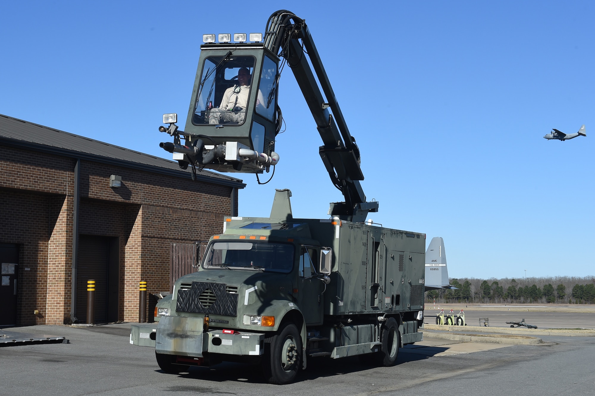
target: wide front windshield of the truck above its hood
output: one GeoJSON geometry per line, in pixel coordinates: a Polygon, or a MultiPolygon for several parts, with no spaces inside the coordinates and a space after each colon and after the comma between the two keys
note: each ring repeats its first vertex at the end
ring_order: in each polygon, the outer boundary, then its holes
{"type": "Polygon", "coordinates": [[[254,269],[288,273],[293,268],[293,245],[287,243],[213,242],[205,254],[205,269],[254,269]]]}

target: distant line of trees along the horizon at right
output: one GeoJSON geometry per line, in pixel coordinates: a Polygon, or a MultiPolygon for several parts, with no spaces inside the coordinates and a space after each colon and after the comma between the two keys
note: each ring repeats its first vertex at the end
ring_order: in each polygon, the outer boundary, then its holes
{"type": "Polygon", "coordinates": [[[457,289],[430,290],[431,303],[595,303],[595,278],[556,276],[555,278],[450,279],[457,289]]]}

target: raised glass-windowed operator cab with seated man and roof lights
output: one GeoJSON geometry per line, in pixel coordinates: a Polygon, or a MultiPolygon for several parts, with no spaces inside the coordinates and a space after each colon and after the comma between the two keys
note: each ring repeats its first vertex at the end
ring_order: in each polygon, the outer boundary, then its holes
{"type": "Polygon", "coordinates": [[[173,134],[174,144],[162,147],[182,167],[268,172],[278,161],[278,64],[263,43],[201,45],[186,127],[177,131],[186,142],[176,142],[173,134]]]}

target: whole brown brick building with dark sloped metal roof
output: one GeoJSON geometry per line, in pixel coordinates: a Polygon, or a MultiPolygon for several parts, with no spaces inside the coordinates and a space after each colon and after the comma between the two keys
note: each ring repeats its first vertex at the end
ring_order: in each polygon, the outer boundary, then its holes
{"type": "Polygon", "coordinates": [[[177,162],[4,115],[0,172],[0,325],[84,322],[91,278],[97,322],[136,321],[139,281],[170,290],[179,253],[221,233],[245,187],[209,171],[192,181],[177,162]]]}

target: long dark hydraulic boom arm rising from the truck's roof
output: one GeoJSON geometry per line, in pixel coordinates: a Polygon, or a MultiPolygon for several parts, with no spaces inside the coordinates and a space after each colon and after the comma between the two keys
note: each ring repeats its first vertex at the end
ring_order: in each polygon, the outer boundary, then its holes
{"type": "Polygon", "coordinates": [[[378,211],[378,202],[366,202],[364,190],[359,184],[360,180],[364,180],[364,174],[359,167],[359,148],[347,129],[308,26],[290,11],[274,12],[267,22],[264,43],[271,52],[286,59],[292,69],[324,144],[320,146],[322,162],[334,186],[339,188],[345,197],[345,202],[331,203],[328,214],[347,221],[365,221],[368,212],[378,211]],[[324,97],[304,49],[312,62],[324,97]],[[328,111],[329,108],[332,114],[328,111]]]}

